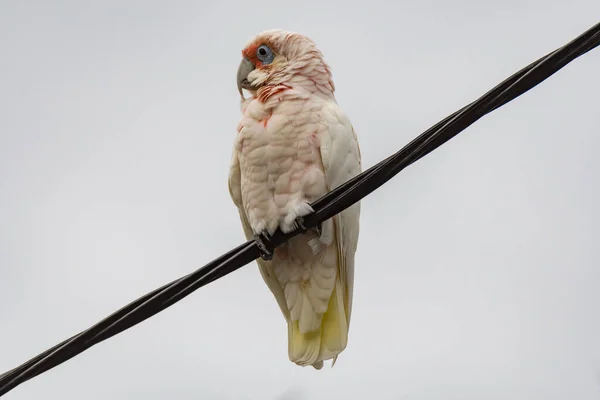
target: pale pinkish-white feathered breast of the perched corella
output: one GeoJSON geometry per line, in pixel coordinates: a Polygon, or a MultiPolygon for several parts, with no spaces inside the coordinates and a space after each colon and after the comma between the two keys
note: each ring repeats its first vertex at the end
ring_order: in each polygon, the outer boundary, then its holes
{"type": "Polygon", "coordinates": [[[271,110],[259,102],[246,108],[236,146],[249,215],[280,218],[299,201],[312,202],[326,192],[318,110],[306,100],[271,110]]]}

